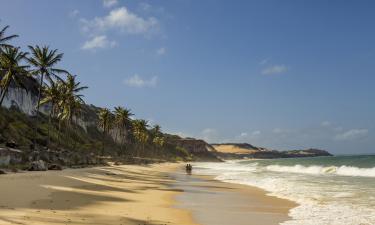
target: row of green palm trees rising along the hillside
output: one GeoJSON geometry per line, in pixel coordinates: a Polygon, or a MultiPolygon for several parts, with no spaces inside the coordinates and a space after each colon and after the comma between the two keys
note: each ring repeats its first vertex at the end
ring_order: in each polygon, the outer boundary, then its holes
{"type": "MultiPolygon", "coordinates": [[[[81,91],[86,89],[77,81],[77,76],[66,70],[56,68],[63,58],[63,53],[48,46],[28,46],[30,52],[23,52],[19,47],[9,44],[18,35],[6,36],[9,26],[0,31],[0,106],[11,85],[30,91],[27,86],[30,79],[38,81],[38,99],[36,103],[36,121],[38,123],[41,105],[49,105],[48,143],[50,141],[50,126],[52,120],[69,127],[78,123],[84,100],[81,91]],[[64,79],[64,78],[65,79],[64,79]]],[[[35,91],[35,90],[34,90],[35,91]]],[[[111,136],[120,144],[123,150],[127,144],[136,144],[136,154],[144,154],[146,146],[155,150],[162,149],[165,139],[159,125],[150,128],[148,121],[132,119],[134,114],[130,109],[115,107],[113,111],[103,108],[98,112],[98,127],[103,132],[103,139],[111,136]]],[[[37,126],[35,126],[35,137],[37,126]]],[[[35,139],[34,139],[35,140],[35,139]]],[[[103,140],[103,151],[104,151],[103,140]]],[[[35,142],[34,142],[35,144],[35,142]]]]}

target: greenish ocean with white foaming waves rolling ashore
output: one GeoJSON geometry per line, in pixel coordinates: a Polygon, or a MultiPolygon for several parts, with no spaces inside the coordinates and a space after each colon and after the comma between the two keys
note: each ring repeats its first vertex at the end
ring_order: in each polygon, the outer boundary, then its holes
{"type": "Polygon", "coordinates": [[[375,224],[375,155],[195,163],[194,172],[297,202],[283,225],[375,224]]]}

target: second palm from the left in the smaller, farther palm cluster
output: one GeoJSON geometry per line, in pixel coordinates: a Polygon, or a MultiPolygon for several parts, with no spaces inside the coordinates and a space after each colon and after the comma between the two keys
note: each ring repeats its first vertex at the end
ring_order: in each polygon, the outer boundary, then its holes
{"type": "Polygon", "coordinates": [[[126,109],[124,107],[115,107],[115,121],[114,125],[118,129],[118,133],[120,135],[121,139],[121,146],[124,144],[124,140],[127,138],[128,130],[131,125],[131,119],[130,117],[134,114],[131,113],[130,109],[126,109]]]}

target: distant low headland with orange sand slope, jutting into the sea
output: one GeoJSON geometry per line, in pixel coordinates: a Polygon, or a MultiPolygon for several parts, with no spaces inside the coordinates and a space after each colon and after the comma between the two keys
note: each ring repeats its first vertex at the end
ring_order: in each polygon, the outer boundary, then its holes
{"type": "Polygon", "coordinates": [[[317,157],[332,156],[329,152],[320,149],[277,151],[262,147],[256,147],[247,143],[226,143],[213,144],[215,154],[225,160],[229,159],[275,159],[275,158],[298,158],[298,157],[317,157]]]}

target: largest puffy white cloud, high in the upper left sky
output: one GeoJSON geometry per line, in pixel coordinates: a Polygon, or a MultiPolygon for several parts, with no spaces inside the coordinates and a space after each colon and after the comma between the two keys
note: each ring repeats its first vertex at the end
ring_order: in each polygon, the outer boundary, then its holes
{"type": "Polygon", "coordinates": [[[81,22],[84,32],[97,33],[112,29],[126,34],[150,34],[158,28],[159,24],[156,18],[142,18],[126,7],[113,9],[104,17],[82,19],[81,22]]]}

